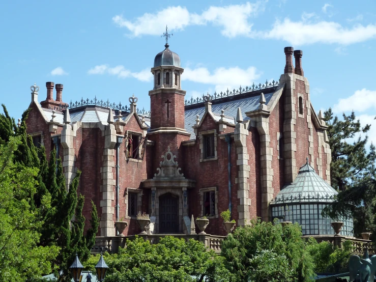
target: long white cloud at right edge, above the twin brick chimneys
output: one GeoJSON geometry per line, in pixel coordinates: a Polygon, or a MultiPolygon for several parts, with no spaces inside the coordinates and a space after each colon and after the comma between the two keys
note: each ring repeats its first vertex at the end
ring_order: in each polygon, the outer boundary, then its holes
{"type": "Polygon", "coordinates": [[[285,18],[276,20],[269,32],[258,32],[257,36],[269,39],[279,39],[293,45],[314,43],[337,43],[349,45],[363,42],[376,36],[376,25],[354,25],[351,29],[343,27],[337,22],[320,21],[307,23],[305,21],[291,21],[285,18]]]}

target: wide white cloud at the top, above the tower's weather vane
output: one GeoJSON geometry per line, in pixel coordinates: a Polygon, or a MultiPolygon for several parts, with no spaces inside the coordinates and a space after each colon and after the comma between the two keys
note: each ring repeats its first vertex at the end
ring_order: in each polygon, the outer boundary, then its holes
{"type": "Polygon", "coordinates": [[[126,27],[130,31],[130,36],[160,35],[166,24],[170,31],[174,31],[183,30],[189,25],[212,23],[221,27],[222,35],[231,38],[250,34],[252,24],[248,19],[264,10],[264,3],[211,6],[200,15],[190,13],[186,7],[167,7],[155,14],[145,13],[133,21],[123,18],[122,15],[116,15],[112,20],[118,26],[126,27]]]}

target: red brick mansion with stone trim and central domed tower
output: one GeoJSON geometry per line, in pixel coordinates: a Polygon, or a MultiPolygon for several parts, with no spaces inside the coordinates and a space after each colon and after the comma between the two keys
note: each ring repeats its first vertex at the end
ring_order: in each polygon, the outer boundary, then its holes
{"type": "Polygon", "coordinates": [[[282,219],[286,203],[305,234],[323,234],[320,209],[336,193],[327,127],[310,101],[302,51],[284,53],[279,81],[186,100],[184,69],[166,44],[151,68],[150,112],[137,108],[134,96],[129,105],[66,103],[63,85],[46,82],[44,101],[32,87],[27,132],[47,157],[56,148],[67,188],[82,172],[78,193],[88,223],[90,200],[97,205],[98,236],[115,236],[120,219],[128,222],[124,235],[138,234],[139,212],[150,215],[153,234],[190,234],[192,215],[206,215],[206,232],[225,235],[222,211],[244,225],[255,217],[282,219]]]}

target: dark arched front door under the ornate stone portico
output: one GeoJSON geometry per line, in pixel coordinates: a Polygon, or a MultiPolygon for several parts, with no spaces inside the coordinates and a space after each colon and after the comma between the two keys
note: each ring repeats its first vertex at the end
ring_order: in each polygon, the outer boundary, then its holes
{"type": "Polygon", "coordinates": [[[179,199],[170,193],[159,197],[159,233],[179,233],[179,199]]]}

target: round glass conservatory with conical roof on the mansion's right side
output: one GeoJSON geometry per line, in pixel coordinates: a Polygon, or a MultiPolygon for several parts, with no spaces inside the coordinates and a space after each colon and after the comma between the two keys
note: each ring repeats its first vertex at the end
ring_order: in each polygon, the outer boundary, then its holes
{"type": "MultiPolygon", "coordinates": [[[[323,208],[334,201],[337,191],[316,174],[313,167],[304,164],[293,183],[283,186],[270,207],[272,219],[298,222],[303,235],[334,235],[329,217],[321,215],[323,208]]],[[[342,236],[353,237],[353,217],[340,218],[343,227],[342,236]]]]}

